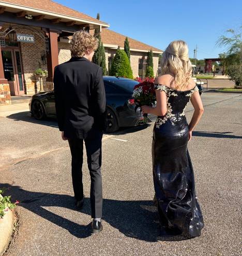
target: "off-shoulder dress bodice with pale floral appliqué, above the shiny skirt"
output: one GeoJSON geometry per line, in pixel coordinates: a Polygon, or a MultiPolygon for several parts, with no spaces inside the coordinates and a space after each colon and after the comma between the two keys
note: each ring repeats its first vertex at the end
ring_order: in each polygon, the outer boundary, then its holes
{"type": "Polygon", "coordinates": [[[190,101],[190,98],[194,92],[198,92],[198,86],[188,91],[177,91],[163,84],[155,84],[155,89],[164,91],[167,95],[167,113],[164,116],[158,116],[156,120],[156,128],[159,128],[162,124],[175,115],[184,116],[185,110],[190,101]]]}

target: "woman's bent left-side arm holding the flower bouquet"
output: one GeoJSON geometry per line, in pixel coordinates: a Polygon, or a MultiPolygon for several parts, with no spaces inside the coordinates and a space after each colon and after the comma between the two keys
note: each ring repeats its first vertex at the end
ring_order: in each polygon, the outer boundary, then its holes
{"type": "Polygon", "coordinates": [[[167,113],[167,95],[164,91],[156,90],[157,105],[155,108],[149,106],[142,106],[142,112],[144,114],[153,114],[157,116],[163,116],[167,113]]]}

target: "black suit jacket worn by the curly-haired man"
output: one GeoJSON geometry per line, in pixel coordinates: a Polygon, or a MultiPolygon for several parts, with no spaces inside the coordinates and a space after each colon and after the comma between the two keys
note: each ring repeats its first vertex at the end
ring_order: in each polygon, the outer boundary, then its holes
{"type": "Polygon", "coordinates": [[[54,95],[59,130],[67,138],[84,139],[92,128],[103,130],[106,98],[98,65],[72,57],[56,66],[54,95]]]}

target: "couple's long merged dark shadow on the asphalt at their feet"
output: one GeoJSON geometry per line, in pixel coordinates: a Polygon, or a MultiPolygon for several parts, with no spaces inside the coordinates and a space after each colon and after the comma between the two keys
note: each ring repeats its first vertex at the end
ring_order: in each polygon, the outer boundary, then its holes
{"type": "MultiPolygon", "coordinates": [[[[90,224],[80,225],[43,208],[57,206],[78,210],[75,208],[73,197],[70,195],[27,191],[19,186],[12,186],[10,184],[0,184],[0,188],[7,188],[12,200],[20,202],[20,207],[24,207],[36,215],[68,230],[70,234],[78,238],[85,238],[91,235],[90,224]]],[[[85,199],[81,213],[90,214],[88,198],[85,199]]],[[[70,216],[69,213],[68,216],[70,216]]],[[[103,199],[103,220],[128,237],[147,242],[157,242],[159,231],[157,224],[158,215],[156,207],[153,206],[153,201],[103,199]]]]}

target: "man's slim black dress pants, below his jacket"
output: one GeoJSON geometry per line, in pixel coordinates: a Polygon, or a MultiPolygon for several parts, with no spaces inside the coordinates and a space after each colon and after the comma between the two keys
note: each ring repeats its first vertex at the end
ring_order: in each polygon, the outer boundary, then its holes
{"type": "MultiPolygon", "coordinates": [[[[85,147],[87,164],[90,173],[90,204],[92,218],[102,217],[102,176],[101,176],[101,157],[102,157],[102,135],[97,129],[92,130],[86,135],[85,147]]],[[[82,184],[82,163],[83,163],[83,139],[68,138],[71,151],[71,175],[74,197],[80,201],[83,199],[82,184]]]]}

